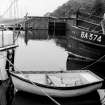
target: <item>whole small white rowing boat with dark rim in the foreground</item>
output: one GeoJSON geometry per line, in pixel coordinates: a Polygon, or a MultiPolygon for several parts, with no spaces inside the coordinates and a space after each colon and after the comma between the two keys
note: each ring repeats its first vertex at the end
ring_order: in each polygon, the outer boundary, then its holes
{"type": "Polygon", "coordinates": [[[12,71],[17,90],[51,97],[75,97],[101,88],[103,79],[89,70],[12,71]]]}

